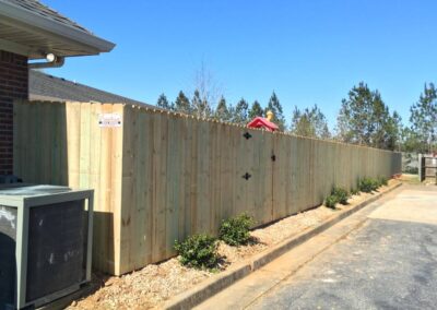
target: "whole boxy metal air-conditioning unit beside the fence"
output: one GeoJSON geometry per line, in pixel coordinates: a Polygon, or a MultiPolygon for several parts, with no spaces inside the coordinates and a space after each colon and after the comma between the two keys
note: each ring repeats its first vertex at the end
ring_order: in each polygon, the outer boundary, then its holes
{"type": "Polygon", "coordinates": [[[91,281],[93,190],[0,187],[0,310],[38,307],[91,281]]]}

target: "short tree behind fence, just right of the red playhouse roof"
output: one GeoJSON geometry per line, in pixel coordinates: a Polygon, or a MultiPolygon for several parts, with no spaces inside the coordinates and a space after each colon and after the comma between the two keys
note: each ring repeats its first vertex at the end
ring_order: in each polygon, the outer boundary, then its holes
{"type": "Polygon", "coordinates": [[[300,111],[297,107],[294,108],[291,132],[318,139],[331,138],[327,118],[317,105],[309,109],[305,108],[304,111],[300,111]]]}

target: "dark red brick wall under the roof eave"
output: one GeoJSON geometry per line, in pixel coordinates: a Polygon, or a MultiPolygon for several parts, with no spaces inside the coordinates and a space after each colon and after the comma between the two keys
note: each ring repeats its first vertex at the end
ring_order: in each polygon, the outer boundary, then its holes
{"type": "Polygon", "coordinates": [[[13,99],[27,97],[27,58],[0,50],[0,175],[12,174],[13,99]]]}

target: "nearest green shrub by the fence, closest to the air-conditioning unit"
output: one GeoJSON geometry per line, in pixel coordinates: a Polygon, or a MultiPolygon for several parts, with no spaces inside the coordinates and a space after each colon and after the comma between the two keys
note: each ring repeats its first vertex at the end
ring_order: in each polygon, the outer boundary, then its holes
{"type": "Polygon", "coordinates": [[[188,237],[182,242],[175,241],[175,250],[180,263],[196,269],[213,269],[218,261],[216,238],[206,234],[188,237]]]}

